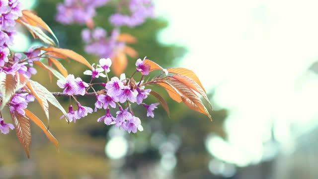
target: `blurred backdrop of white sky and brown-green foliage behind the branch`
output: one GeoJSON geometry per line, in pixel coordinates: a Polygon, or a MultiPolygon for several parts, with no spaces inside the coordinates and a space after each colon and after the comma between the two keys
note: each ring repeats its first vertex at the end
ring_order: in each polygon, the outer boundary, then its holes
{"type": "MultiPolygon", "coordinates": [[[[62,0],[21,0],[34,9],[62,48],[83,52],[80,30],[54,20],[62,0]]],[[[60,151],[32,128],[27,160],[14,132],[0,140],[2,179],[317,179],[318,2],[316,0],[156,0],[157,17],[123,32],[143,58],[164,68],[193,70],[209,91],[213,122],[184,104],[168,100],[171,118],[159,107],[147,118],[136,107],[144,131],[127,134],[97,123],[102,111],[76,125],[59,120],[51,106],[50,131],[60,151]]],[[[98,8],[99,26],[111,29],[110,7],[98,8]]],[[[21,29],[14,50],[40,45],[21,29]]],[[[127,74],[136,59],[129,59],[127,74]]],[[[64,63],[84,77],[83,65],[64,63]]],[[[85,79],[87,78],[87,79],[85,79]]],[[[33,77],[61,90],[38,70],[33,77]]],[[[56,79],[55,79],[56,80],[56,79]]],[[[160,89],[157,89],[160,90],[160,89]]],[[[67,107],[67,99],[59,98],[67,107]]],[[[93,105],[94,98],[80,98],[93,105]]],[[[156,102],[148,97],[148,103],[156,102]]],[[[29,105],[45,118],[39,105],[29,105]]],[[[9,117],[4,112],[4,117],[9,117]]],[[[33,125],[35,126],[35,125],[33,125]]]]}

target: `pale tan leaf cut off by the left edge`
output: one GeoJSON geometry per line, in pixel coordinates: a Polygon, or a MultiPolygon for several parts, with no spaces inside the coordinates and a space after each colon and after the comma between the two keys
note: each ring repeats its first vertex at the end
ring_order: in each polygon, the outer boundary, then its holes
{"type": "Polygon", "coordinates": [[[2,104],[0,110],[11,99],[17,90],[18,79],[11,74],[0,73],[0,92],[2,94],[2,104]]]}

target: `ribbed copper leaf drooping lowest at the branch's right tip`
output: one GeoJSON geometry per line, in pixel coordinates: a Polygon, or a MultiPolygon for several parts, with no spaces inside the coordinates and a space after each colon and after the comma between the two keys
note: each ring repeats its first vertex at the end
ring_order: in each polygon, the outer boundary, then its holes
{"type": "Polygon", "coordinates": [[[188,88],[186,85],[184,85],[183,83],[175,79],[171,79],[171,78],[165,79],[165,82],[168,85],[172,86],[173,88],[177,89],[182,94],[181,98],[183,103],[185,103],[192,110],[195,110],[207,115],[212,121],[211,115],[209,114],[206,107],[203,105],[200,97],[197,96],[192,89],[188,88]]]}

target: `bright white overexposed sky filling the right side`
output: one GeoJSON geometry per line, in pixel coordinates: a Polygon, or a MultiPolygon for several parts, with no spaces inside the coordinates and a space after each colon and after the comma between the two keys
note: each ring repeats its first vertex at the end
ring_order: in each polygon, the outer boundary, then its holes
{"type": "Polygon", "coordinates": [[[156,1],[170,24],[159,39],[185,45],[179,66],[216,88],[215,105],[230,109],[229,143],[207,140],[214,156],[255,163],[266,155],[272,121],[286,152],[294,137],[317,126],[318,78],[307,71],[318,60],[317,7],[317,0],[156,1]],[[293,124],[299,133],[290,133],[293,124]]]}

